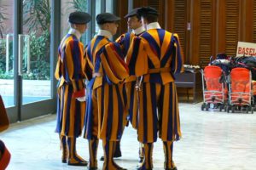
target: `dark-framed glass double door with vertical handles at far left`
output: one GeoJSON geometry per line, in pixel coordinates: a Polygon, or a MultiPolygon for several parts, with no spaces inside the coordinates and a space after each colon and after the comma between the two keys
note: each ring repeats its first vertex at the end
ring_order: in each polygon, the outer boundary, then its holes
{"type": "Polygon", "coordinates": [[[50,5],[0,1],[0,94],[10,122],[55,112],[50,5]]]}

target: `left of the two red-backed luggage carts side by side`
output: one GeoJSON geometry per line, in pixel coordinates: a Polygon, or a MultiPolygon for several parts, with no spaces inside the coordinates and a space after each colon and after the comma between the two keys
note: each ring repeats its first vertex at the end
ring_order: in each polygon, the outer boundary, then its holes
{"type": "Polygon", "coordinates": [[[209,111],[209,108],[222,111],[226,109],[228,88],[225,82],[224,71],[216,65],[208,65],[202,75],[203,104],[201,111],[209,111]]]}

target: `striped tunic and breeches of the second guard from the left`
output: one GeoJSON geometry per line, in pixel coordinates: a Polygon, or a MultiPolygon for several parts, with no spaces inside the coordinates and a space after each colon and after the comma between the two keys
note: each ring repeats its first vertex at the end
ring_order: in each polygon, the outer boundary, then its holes
{"type": "Polygon", "coordinates": [[[84,72],[90,80],[84,138],[119,140],[125,111],[120,82],[129,76],[119,44],[96,36],[87,46],[84,60],[84,72]]]}

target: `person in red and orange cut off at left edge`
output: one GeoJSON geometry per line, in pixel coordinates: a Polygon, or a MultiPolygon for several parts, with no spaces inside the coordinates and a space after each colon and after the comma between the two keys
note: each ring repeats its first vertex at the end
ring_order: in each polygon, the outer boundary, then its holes
{"type": "MultiPolygon", "coordinates": [[[[0,133],[9,127],[9,119],[0,95],[0,133]]],[[[10,153],[3,141],[0,139],[0,170],[4,170],[9,165],[10,153]]]]}

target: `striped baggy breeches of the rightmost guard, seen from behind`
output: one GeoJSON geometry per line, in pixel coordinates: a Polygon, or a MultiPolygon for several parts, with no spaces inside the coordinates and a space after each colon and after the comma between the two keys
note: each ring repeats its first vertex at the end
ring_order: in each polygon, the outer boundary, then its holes
{"type": "Polygon", "coordinates": [[[152,143],[159,135],[163,141],[181,137],[177,105],[177,90],[174,82],[144,82],[139,91],[139,113],[137,116],[138,140],[152,143]]]}

